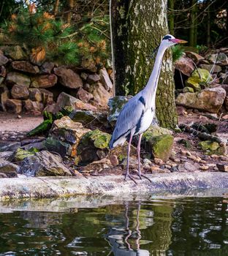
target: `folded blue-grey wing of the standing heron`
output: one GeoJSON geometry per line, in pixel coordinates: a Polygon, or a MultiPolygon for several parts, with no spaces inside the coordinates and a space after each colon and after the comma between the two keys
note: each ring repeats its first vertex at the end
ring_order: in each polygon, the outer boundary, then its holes
{"type": "Polygon", "coordinates": [[[124,105],[115,124],[113,136],[110,140],[110,148],[121,137],[126,137],[132,129],[136,129],[145,110],[145,102],[142,97],[132,98],[124,105]]]}

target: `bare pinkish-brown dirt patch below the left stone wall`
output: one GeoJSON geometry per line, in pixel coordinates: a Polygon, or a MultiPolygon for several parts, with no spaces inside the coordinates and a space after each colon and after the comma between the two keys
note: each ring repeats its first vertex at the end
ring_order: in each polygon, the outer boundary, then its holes
{"type": "Polygon", "coordinates": [[[29,116],[0,112],[0,132],[29,132],[42,123],[42,116],[29,116]]]}

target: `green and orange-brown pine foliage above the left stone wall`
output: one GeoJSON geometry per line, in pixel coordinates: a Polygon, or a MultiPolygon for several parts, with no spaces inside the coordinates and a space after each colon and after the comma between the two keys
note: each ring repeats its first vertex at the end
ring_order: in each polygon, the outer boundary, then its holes
{"type": "Polygon", "coordinates": [[[89,21],[86,25],[69,26],[34,4],[23,6],[1,26],[4,34],[1,44],[23,45],[35,64],[48,60],[77,65],[83,58],[104,64],[109,56],[104,34],[109,25],[108,16],[89,21]]]}

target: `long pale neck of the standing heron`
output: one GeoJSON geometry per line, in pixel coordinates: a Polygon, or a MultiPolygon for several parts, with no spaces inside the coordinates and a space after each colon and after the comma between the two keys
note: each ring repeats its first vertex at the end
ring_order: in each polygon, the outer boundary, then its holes
{"type": "Polygon", "coordinates": [[[166,48],[163,45],[159,46],[158,53],[156,55],[156,59],[153,65],[153,71],[151,73],[151,76],[148,80],[147,85],[145,86],[145,91],[151,96],[155,96],[156,89],[159,83],[159,75],[161,72],[161,64],[162,64],[162,58],[164,56],[164,51],[166,48]]]}

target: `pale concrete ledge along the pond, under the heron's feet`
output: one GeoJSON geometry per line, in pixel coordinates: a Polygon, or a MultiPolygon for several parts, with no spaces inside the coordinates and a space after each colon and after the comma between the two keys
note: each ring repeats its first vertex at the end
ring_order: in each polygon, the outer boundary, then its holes
{"type": "Polygon", "coordinates": [[[135,185],[123,176],[1,178],[0,200],[66,195],[151,195],[186,189],[227,189],[228,173],[160,173],[148,175],[135,185]]]}

